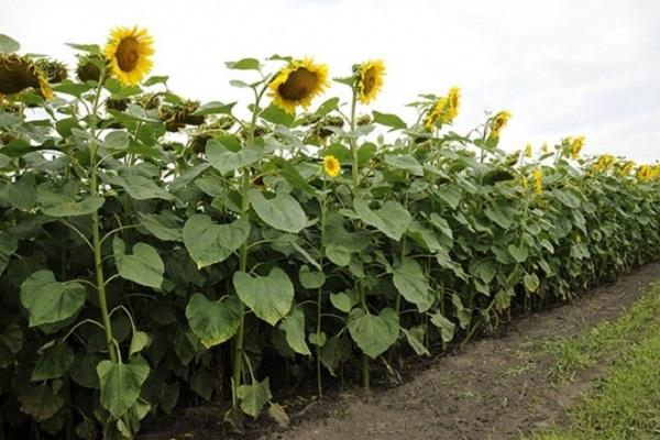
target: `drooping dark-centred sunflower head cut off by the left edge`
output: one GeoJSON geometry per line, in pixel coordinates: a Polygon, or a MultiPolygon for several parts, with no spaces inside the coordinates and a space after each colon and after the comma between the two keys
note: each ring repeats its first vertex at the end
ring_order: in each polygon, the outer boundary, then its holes
{"type": "Polygon", "coordinates": [[[0,55],[0,94],[14,95],[30,87],[37,88],[45,99],[53,98],[46,77],[32,59],[19,55],[0,55]]]}

